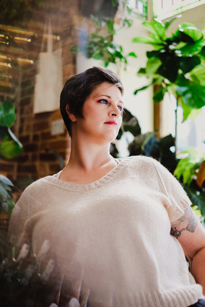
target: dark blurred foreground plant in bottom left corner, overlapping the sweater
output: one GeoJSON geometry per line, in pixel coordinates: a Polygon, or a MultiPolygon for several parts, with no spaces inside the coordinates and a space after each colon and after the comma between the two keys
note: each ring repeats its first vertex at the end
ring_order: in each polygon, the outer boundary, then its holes
{"type": "MultiPolygon", "coordinates": [[[[45,240],[37,255],[24,244],[19,250],[0,232],[0,306],[3,307],[86,307],[89,289],[60,274],[47,253],[45,240]],[[46,260],[45,260],[46,259],[46,260]],[[79,297],[73,297],[79,288],[79,297]],[[74,290],[74,292],[73,292],[74,290]]],[[[82,283],[82,281],[81,281],[82,283]]]]}

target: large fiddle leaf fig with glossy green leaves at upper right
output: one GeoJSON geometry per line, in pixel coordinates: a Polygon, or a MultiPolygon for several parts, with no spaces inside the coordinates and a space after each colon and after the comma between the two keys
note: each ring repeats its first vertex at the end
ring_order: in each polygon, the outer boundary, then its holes
{"type": "Polygon", "coordinates": [[[138,71],[150,83],[137,89],[135,94],[157,85],[154,101],[162,101],[166,92],[174,94],[185,120],[193,109],[205,105],[205,37],[190,23],[179,24],[168,36],[167,30],[175,18],[165,24],[157,19],[144,22],[143,26],[151,33],[133,39],[133,42],[150,44],[154,48],[146,53],[146,67],[138,71]]]}

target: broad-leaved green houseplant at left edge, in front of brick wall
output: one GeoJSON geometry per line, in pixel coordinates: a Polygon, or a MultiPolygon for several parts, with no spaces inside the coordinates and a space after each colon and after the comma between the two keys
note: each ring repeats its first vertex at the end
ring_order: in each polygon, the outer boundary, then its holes
{"type": "MultiPolygon", "coordinates": [[[[22,152],[22,144],[11,131],[10,127],[15,122],[15,106],[5,100],[0,104],[0,159],[14,158],[22,152]]],[[[0,213],[11,214],[14,206],[11,192],[12,182],[0,174],[0,213]]]]}

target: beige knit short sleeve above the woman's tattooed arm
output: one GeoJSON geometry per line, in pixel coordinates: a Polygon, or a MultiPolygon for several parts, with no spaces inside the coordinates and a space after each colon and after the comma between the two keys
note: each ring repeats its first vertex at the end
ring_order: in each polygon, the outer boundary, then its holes
{"type": "Polygon", "coordinates": [[[184,210],[191,205],[184,188],[179,181],[156,159],[150,159],[158,173],[159,180],[162,184],[162,191],[170,200],[170,206],[167,209],[170,221],[178,219],[184,214],[184,210]]]}

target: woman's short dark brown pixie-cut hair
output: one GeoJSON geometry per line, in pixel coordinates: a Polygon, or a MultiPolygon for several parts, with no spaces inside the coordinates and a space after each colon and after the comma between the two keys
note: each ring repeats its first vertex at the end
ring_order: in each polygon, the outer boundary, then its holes
{"type": "Polygon", "coordinates": [[[70,136],[71,121],[66,111],[67,104],[71,114],[83,118],[82,109],[86,98],[97,86],[104,82],[113,84],[123,94],[123,85],[118,75],[110,69],[95,66],[70,77],[65,83],[61,92],[60,110],[70,136]]]}

